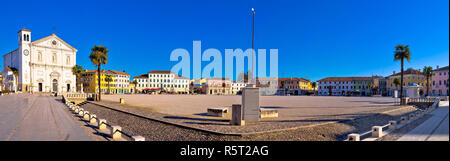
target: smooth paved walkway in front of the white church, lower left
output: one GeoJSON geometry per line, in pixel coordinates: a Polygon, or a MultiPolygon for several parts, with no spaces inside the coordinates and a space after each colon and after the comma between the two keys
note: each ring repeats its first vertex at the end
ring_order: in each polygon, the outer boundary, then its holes
{"type": "Polygon", "coordinates": [[[92,140],[65,110],[49,95],[0,96],[0,140],[92,140]]]}

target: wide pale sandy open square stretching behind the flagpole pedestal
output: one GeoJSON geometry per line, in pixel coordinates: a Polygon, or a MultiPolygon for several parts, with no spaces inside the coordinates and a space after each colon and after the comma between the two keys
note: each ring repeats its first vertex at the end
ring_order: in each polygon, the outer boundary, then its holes
{"type": "MultiPolygon", "coordinates": [[[[118,102],[125,98],[131,106],[163,114],[200,117],[209,107],[230,107],[241,104],[241,96],[216,95],[105,95],[103,100],[118,102]]],[[[392,108],[394,99],[388,97],[328,97],[328,96],[261,96],[262,108],[276,109],[276,120],[298,120],[317,117],[353,117],[367,111],[392,108]]]]}

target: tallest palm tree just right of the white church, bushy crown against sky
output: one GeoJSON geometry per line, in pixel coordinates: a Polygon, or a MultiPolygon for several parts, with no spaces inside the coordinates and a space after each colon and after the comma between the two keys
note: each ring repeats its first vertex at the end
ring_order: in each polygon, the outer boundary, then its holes
{"type": "Polygon", "coordinates": [[[101,69],[101,65],[104,64],[106,65],[108,63],[108,52],[109,49],[104,47],[103,45],[94,45],[93,48],[91,48],[91,55],[89,55],[89,59],[91,59],[92,63],[94,65],[96,65],[97,68],[97,73],[98,73],[98,101],[101,101],[101,73],[100,73],[100,69],[101,69]]]}

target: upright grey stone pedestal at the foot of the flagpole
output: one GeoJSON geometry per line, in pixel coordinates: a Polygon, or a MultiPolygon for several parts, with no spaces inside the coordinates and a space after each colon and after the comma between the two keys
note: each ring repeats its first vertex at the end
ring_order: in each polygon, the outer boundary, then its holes
{"type": "Polygon", "coordinates": [[[242,89],[243,120],[257,122],[260,118],[259,88],[245,87],[242,89]]]}

